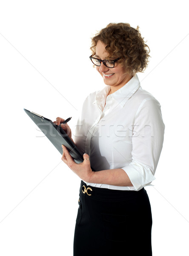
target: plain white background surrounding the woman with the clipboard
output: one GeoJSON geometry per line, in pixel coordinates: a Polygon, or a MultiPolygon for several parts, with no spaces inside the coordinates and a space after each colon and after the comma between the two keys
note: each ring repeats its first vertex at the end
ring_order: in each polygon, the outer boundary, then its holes
{"type": "Polygon", "coordinates": [[[104,86],[89,47],[110,22],[140,26],[152,58],[138,76],[166,125],[155,186],[146,188],[153,256],[189,255],[187,17],[184,0],[0,1],[1,256],[73,254],[80,178],[23,108],[72,116],[74,129],[83,99],[104,86]]]}

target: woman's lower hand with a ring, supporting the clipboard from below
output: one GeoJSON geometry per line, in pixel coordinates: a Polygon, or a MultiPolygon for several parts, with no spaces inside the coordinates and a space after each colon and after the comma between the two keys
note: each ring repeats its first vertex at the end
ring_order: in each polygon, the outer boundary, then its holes
{"type": "Polygon", "coordinates": [[[63,154],[62,154],[62,160],[64,163],[67,164],[67,166],[75,173],[77,176],[80,177],[80,179],[90,182],[90,179],[93,175],[93,171],[91,169],[91,164],[89,160],[88,154],[83,154],[83,163],[75,163],[72,156],[69,154],[69,151],[67,148],[62,145],[63,148],[63,154]]]}

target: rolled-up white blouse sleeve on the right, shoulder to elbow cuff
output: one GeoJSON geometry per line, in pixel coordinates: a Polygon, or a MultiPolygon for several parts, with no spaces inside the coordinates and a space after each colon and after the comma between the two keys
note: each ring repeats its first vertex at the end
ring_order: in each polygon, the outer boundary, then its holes
{"type": "Polygon", "coordinates": [[[143,100],[132,126],[132,162],[121,169],[138,191],[155,180],[165,129],[159,102],[152,98],[143,100]]]}

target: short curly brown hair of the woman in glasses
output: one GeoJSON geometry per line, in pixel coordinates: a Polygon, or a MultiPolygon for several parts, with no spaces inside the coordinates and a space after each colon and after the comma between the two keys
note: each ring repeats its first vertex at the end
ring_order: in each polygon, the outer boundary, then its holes
{"type": "Polygon", "coordinates": [[[143,39],[139,26],[134,29],[129,23],[109,23],[92,38],[90,49],[94,56],[100,40],[106,45],[109,53],[107,58],[120,58],[119,63],[134,76],[137,72],[143,72],[149,63],[150,49],[143,39]]]}

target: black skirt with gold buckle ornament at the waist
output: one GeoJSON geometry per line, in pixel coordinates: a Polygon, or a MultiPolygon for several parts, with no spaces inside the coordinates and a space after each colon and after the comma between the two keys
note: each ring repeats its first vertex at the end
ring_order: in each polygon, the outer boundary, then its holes
{"type": "Polygon", "coordinates": [[[74,256],[152,256],[152,213],[144,188],[102,189],[81,181],[78,203],[74,256]]]}

